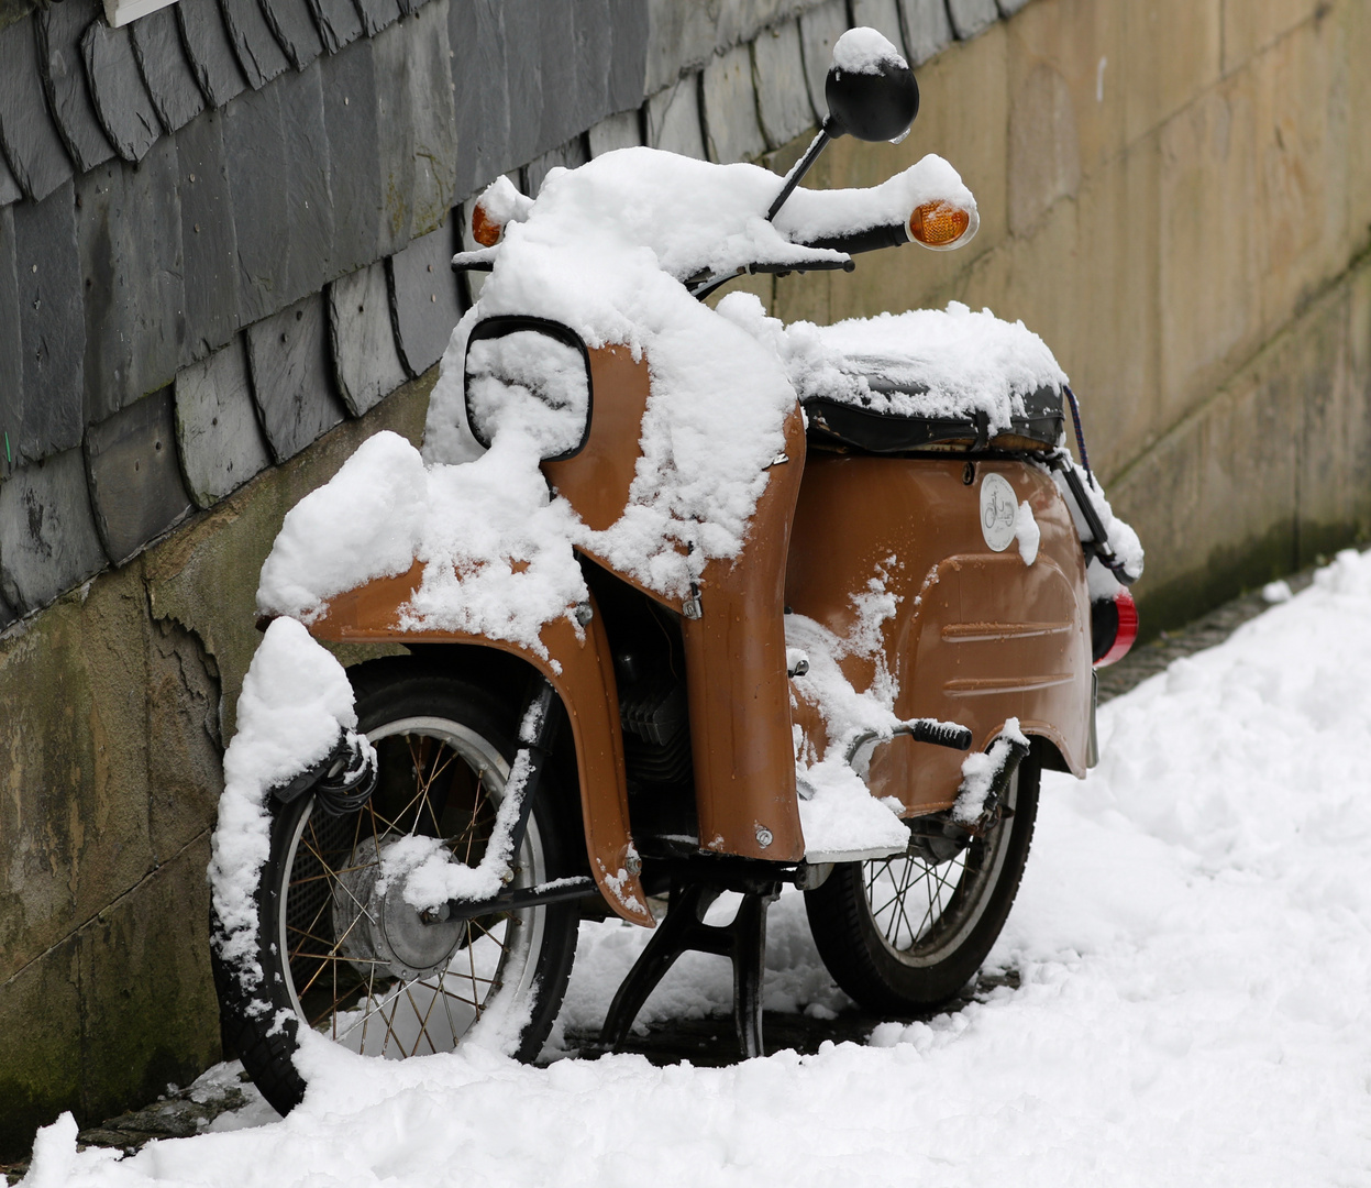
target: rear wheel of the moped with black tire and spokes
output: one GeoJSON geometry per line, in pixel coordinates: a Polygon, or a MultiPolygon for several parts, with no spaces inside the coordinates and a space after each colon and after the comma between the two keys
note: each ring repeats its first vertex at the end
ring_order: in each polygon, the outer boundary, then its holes
{"type": "Polygon", "coordinates": [[[1035,755],[1019,764],[1005,796],[1013,815],[957,857],[936,866],[903,855],[843,863],[805,892],[818,953],[862,1010],[919,1014],[975,977],[1019,890],[1041,772],[1035,755]]]}

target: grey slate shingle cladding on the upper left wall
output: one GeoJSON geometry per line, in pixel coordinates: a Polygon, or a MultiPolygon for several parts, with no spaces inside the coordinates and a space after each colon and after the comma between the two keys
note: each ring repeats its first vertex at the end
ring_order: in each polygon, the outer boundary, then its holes
{"type": "Polygon", "coordinates": [[[0,626],[432,366],[472,296],[458,204],[499,173],[536,192],[644,133],[757,156],[817,121],[854,16],[923,60],[994,4],[180,0],[110,29],[7,0],[0,626]]]}

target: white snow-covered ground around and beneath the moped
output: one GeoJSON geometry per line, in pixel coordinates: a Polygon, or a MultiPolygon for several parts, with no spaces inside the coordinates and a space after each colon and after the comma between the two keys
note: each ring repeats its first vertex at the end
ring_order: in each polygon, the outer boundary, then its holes
{"type": "MultiPolygon", "coordinates": [[[[129,1158],[77,1154],[59,1121],[25,1183],[1371,1183],[1371,554],[1339,556],[1100,724],[1090,781],[1045,781],[993,955],[1019,989],[727,1069],[468,1051],[358,1076],[333,1059],[285,1121],[250,1107],[211,1126],[239,1129],[129,1158]]],[[[585,926],[572,1030],[644,938],[585,926]]],[[[798,896],[773,910],[769,966],[768,1007],[843,1007],[798,896]]],[[[701,958],[648,1014],[728,995],[701,958]]]]}

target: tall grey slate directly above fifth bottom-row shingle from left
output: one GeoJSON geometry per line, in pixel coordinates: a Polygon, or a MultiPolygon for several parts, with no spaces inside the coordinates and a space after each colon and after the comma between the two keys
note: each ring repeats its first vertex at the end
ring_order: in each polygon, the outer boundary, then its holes
{"type": "Polygon", "coordinates": [[[333,198],[333,272],[352,272],[381,254],[381,126],[372,43],[361,40],[319,63],[324,128],[333,198]]]}

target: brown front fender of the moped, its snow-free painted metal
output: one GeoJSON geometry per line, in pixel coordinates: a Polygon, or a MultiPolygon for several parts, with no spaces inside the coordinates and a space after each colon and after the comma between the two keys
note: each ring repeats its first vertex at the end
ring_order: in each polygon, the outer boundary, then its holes
{"type": "Polygon", "coordinates": [[[566,619],[544,626],[546,657],[517,643],[462,631],[402,631],[400,608],[414,595],[422,576],[424,567],[415,561],[407,573],[377,578],[339,594],[310,626],[310,632],[336,643],[474,643],[518,656],[542,672],[562,698],[572,723],[591,874],[618,915],[651,927],[642,883],[638,875],[628,874],[632,838],[618,690],[599,608],[591,602],[592,617],[581,638],[566,619]]]}

